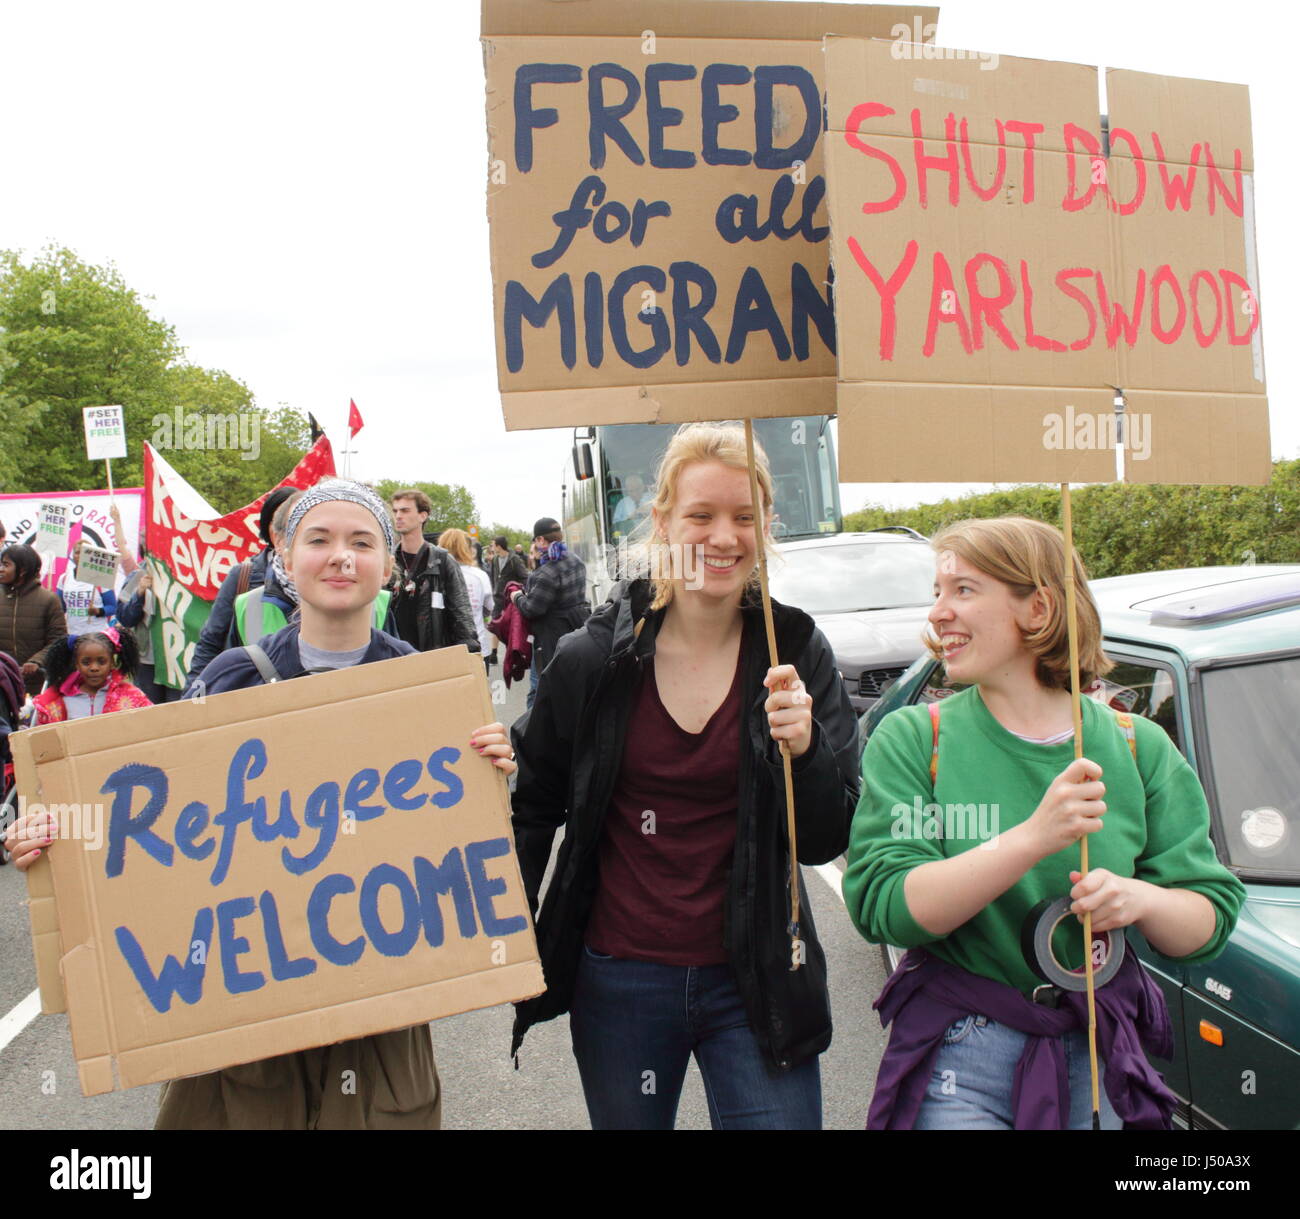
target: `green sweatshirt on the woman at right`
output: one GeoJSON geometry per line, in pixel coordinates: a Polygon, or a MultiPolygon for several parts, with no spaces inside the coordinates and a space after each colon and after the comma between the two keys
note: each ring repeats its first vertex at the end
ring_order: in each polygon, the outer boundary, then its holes
{"type": "MultiPolygon", "coordinates": [[[[1088,863],[1206,897],[1217,916],[1214,934],[1184,959],[1209,960],[1231,934],[1245,889],[1214,855],[1205,793],[1192,768],[1158,724],[1134,716],[1134,728],[1136,762],[1114,712],[1083,700],[1084,756],[1101,767],[1106,785],[1105,824],[1088,838],[1088,863]]],[[[982,842],[1034,815],[1074,759],[1074,743],[1022,741],[993,719],[976,687],[944,700],[933,788],[931,743],[926,706],[887,715],[867,743],[844,873],[849,916],[874,943],[926,945],[952,964],[1030,993],[1041,979],[1020,951],[1020,929],[1037,902],[1070,892],[1070,871],[1079,867],[1076,845],[1039,860],[1000,898],[937,938],[907,908],[904,879],[932,859],[997,850],[996,841],[982,842]],[[942,837],[936,836],[940,829],[942,837]]],[[[1057,958],[1078,968],[1082,941],[1078,923],[1063,923],[1054,940],[1057,958]]]]}

